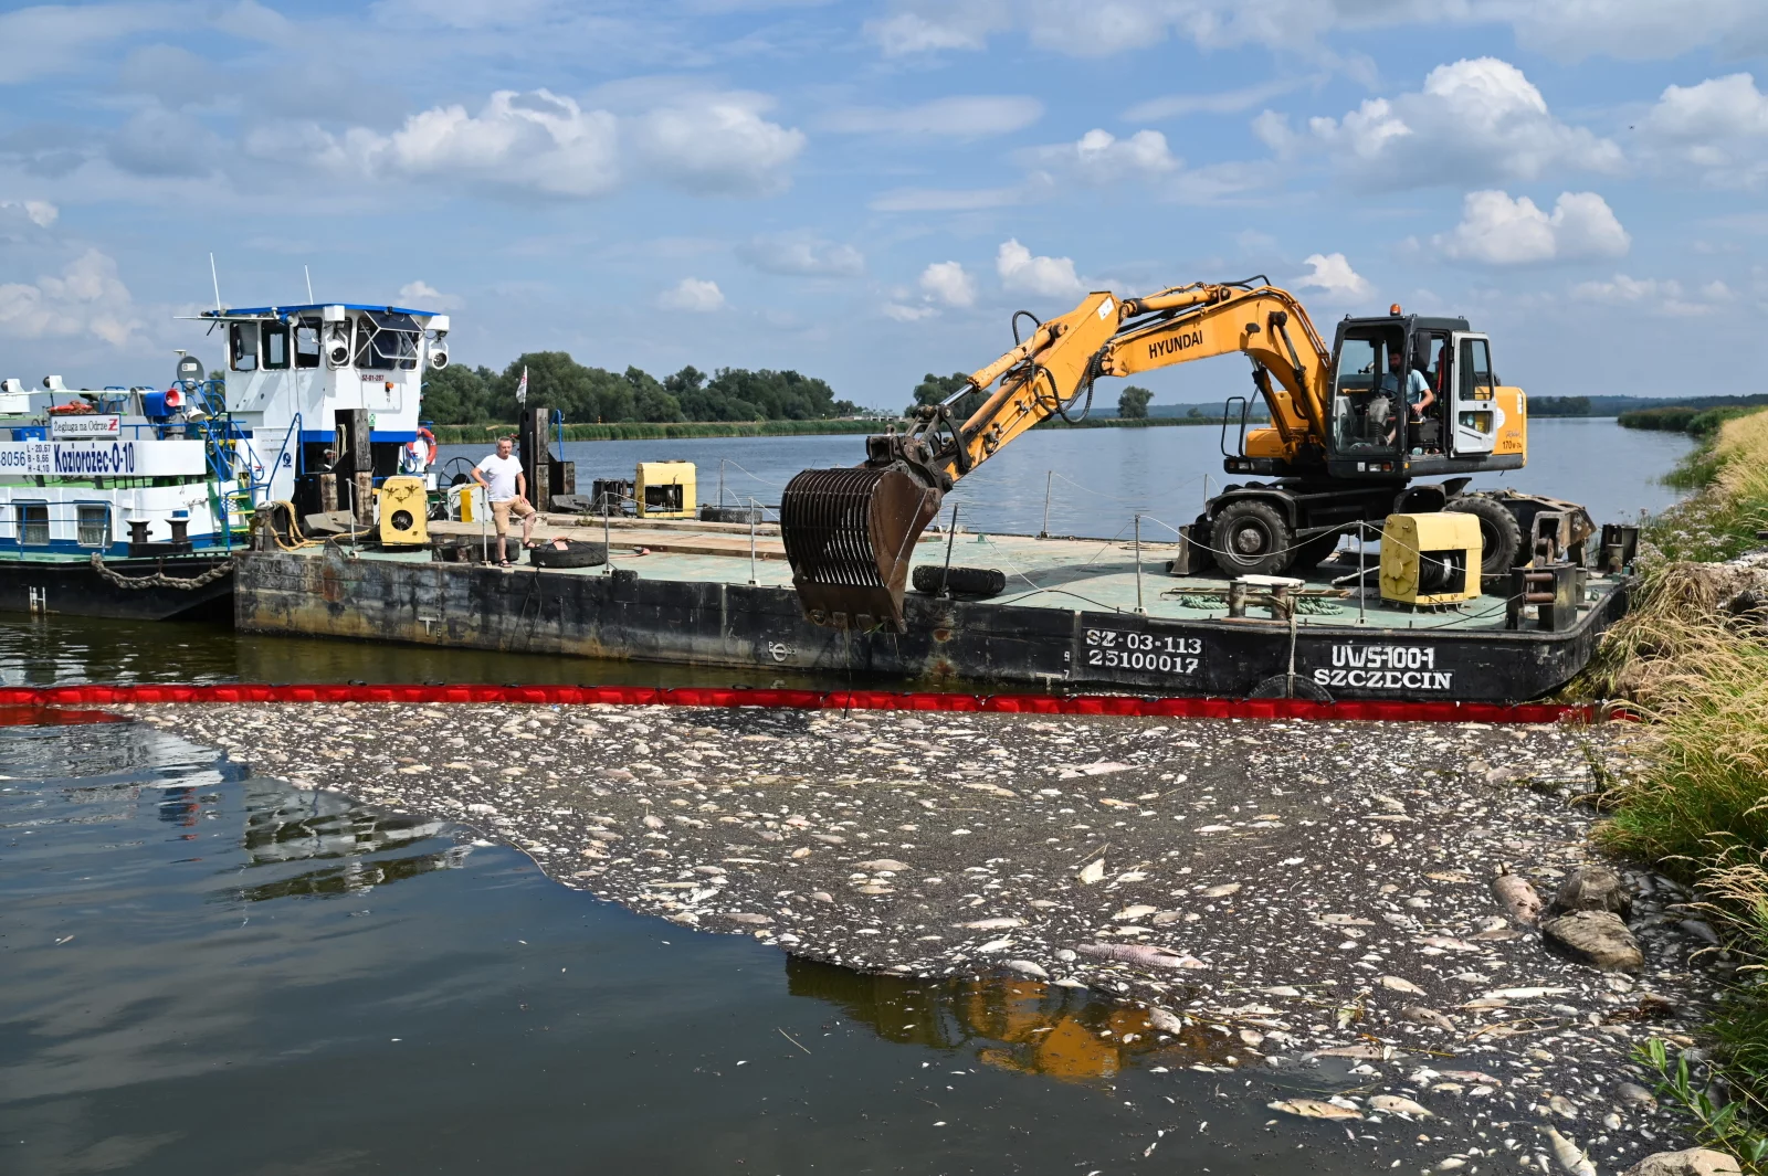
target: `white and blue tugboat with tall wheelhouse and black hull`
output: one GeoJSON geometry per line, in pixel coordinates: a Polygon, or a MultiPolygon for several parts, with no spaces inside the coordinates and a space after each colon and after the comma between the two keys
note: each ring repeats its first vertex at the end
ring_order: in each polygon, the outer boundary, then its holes
{"type": "Polygon", "coordinates": [[[180,351],[166,390],[0,383],[0,611],[232,622],[255,516],[299,542],[304,516],[366,524],[380,480],[426,473],[421,378],[447,366],[446,314],[313,304],[198,321],[225,332],[223,380],[180,351]]]}

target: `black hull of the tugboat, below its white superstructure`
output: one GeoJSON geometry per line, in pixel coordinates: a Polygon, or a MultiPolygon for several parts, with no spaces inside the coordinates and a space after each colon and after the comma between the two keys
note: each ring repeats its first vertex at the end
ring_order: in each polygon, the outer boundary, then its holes
{"type": "Polygon", "coordinates": [[[104,620],[233,618],[233,556],[180,554],[104,560],[0,560],[0,613],[104,620]]]}

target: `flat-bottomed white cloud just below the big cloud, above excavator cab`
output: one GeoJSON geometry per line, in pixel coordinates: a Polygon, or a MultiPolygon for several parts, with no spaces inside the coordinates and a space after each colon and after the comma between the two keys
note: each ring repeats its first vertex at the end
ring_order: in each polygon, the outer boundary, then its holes
{"type": "Polygon", "coordinates": [[[1632,238],[1597,192],[1561,192],[1547,214],[1528,196],[1482,191],[1467,192],[1460,224],[1430,244],[1457,260],[1529,265],[1619,258],[1632,238]]]}

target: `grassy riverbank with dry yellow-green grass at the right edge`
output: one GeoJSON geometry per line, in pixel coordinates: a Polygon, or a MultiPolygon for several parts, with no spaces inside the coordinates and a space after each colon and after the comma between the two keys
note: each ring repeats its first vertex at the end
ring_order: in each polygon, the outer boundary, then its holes
{"type": "Polygon", "coordinates": [[[1764,1171],[1768,572],[1724,562],[1759,547],[1756,531],[1768,528],[1768,411],[1722,422],[1676,477],[1696,493],[1650,524],[1635,606],[1589,675],[1598,692],[1634,699],[1648,719],[1646,766],[1614,786],[1598,837],[1696,886],[1696,915],[1745,961],[1710,1026],[1741,1114],[1708,1134],[1754,1160],[1749,1171],[1764,1171]]]}

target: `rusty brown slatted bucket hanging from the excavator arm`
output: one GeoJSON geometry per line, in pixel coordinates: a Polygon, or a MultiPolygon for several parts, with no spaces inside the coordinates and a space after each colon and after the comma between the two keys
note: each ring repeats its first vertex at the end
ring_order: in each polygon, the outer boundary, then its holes
{"type": "Polygon", "coordinates": [[[902,464],[804,470],[787,482],[780,537],[804,616],[900,632],[914,544],[942,496],[902,464]]]}

